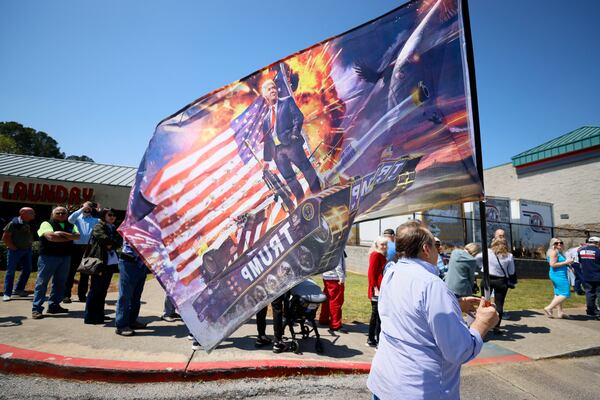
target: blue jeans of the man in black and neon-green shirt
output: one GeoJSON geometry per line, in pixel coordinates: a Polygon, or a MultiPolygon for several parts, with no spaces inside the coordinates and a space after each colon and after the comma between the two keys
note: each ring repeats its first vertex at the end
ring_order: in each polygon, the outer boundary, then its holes
{"type": "Polygon", "coordinates": [[[35,281],[33,293],[33,311],[44,311],[48,282],[52,278],[52,291],[48,300],[49,307],[60,306],[65,294],[65,284],[69,275],[70,256],[40,255],[38,258],[38,278],[35,281]]]}

